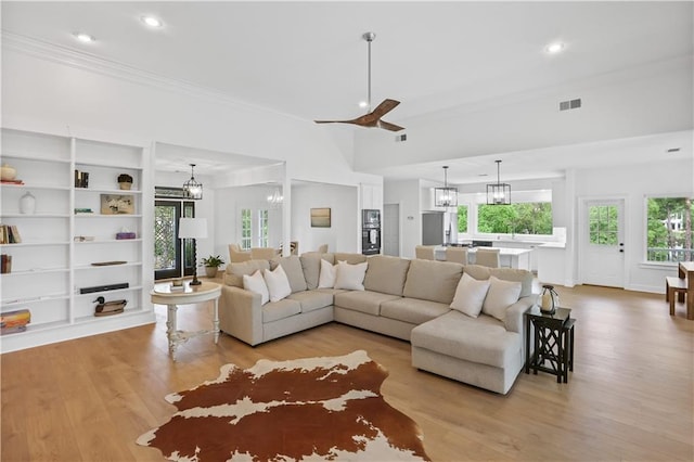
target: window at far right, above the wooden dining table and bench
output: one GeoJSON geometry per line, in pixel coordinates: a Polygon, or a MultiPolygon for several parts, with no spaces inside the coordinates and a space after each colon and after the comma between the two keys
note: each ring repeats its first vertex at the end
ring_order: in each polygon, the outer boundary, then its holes
{"type": "Polygon", "coordinates": [[[693,261],[692,197],[646,197],[646,260],[693,261]]]}

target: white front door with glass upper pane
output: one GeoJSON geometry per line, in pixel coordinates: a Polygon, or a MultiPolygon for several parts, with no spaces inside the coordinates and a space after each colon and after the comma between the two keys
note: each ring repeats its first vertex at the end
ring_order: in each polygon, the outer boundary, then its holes
{"type": "Polygon", "coordinates": [[[624,200],[587,200],[581,210],[580,280],[625,286],[624,200]]]}

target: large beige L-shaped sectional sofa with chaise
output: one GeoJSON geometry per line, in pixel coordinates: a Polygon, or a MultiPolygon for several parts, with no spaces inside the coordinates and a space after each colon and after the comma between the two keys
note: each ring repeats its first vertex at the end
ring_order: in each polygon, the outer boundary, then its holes
{"type": "Polygon", "coordinates": [[[308,253],[229,265],[219,320],[223,332],[249,345],[337,321],[410,342],[417,369],[505,394],[524,363],[523,313],[535,303],[531,287],[532,274],[525,270],[308,253]],[[364,290],[319,288],[321,259],[367,261],[364,290]],[[260,294],[243,288],[243,275],[278,265],[287,275],[292,294],[262,305],[260,294]],[[519,282],[519,297],[502,320],[484,312],[472,318],[451,309],[463,272],[475,280],[493,275],[519,282]]]}

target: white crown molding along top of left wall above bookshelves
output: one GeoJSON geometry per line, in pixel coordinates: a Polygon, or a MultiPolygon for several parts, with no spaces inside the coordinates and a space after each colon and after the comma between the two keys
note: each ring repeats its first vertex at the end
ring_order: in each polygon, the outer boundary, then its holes
{"type": "Polygon", "coordinates": [[[304,118],[297,117],[293,114],[287,114],[236,100],[230,97],[228,93],[219,90],[201,87],[200,85],[191,84],[184,80],[172,79],[116,61],[104,60],[103,57],[99,57],[82,51],[77,51],[69,47],[63,47],[7,30],[2,30],[2,35],[0,37],[2,40],[3,50],[16,51],[23,54],[38,57],[40,60],[69,66],[79,70],[87,70],[120,80],[127,80],[139,85],[155,87],[162,90],[180,93],[188,97],[204,99],[217,104],[222,103],[237,110],[253,111],[257,113],[273,113],[283,117],[305,120],[304,118]]]}

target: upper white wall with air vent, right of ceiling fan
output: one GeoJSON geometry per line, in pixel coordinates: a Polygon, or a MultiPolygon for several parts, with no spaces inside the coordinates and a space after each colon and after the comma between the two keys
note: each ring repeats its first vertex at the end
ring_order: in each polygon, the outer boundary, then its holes
{"type": "Polygon", "coordinates": [[[583,89],[539,89],[400,120],[408,141],[364,130],[356,134],[356,168],[388,168],[477,155],[689,130],[693,73],[690,56],[578,82],[583,89]],[[581,98],[582,107],[558,112],[581,98]]]}

